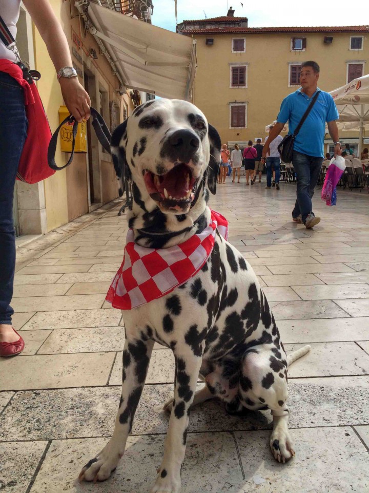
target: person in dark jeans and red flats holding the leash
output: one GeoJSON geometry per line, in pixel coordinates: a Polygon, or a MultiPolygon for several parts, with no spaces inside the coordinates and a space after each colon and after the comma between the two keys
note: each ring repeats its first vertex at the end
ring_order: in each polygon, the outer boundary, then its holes
{"type": "MultiPolygon", "coordinates": [[[[55,71],[60,75],[61,93],[68,110],[78,122],[88,119],[91,101],[87,92],[75,71],[75,75],[69,77],[62,70],[74,69],[66,36],[48,0],[24,0],[23,3],[46,44],[55,71]]],[[[20,0],[0,2],[0,15],[14,39],[19,7],[20,0]]],[[[0,59],[17,61],[13,51],[8,50],[1,40],[0,59]]],[[[23,338],[12,326],[14,310],[10,302],[15,272],[13,192],[27,124],[24,89],[8,72],[0,71],[0,356],[14,356],[24,349],[23,338]]]]}

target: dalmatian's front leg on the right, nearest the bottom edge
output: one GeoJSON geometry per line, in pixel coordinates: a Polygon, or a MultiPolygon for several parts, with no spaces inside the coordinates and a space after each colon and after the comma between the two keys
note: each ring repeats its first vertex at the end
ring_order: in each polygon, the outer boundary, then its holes
{"type": "MultiPolygon", "coordinates": [[[[179,345],[178,345],[179,346],[179,345]]],[[[174,351],[176,372],[174,401],[165,441],[165,452],[151,493],[178,493],[181,486],[180,470],[185,458],[190,407],[194,400],[197,377],[202,362],[201,346],[196,354],[183,345],[174,351]]]]}

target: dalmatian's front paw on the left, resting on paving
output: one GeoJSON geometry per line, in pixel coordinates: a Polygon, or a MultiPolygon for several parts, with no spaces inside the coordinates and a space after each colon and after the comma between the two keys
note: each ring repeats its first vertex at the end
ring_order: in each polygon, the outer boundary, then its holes
{"type": "Polygon", "coordinates": [[[115,452],[109,443],[101,452],[91,459],[80,471],[79,481],[106,481],[110,478],[111,473],[115,471],[122,453],[115,452]]]}

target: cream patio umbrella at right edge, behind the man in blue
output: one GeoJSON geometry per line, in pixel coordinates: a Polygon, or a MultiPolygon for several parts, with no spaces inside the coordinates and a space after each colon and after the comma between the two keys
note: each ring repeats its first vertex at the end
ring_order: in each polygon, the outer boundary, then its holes
{"type": "Polygon", "coordinates": [[[331,91],[344,130],[359,130],[358,155],[361,153],[364,127],[369,125],[369,75],[354,79],[331,91]]]}

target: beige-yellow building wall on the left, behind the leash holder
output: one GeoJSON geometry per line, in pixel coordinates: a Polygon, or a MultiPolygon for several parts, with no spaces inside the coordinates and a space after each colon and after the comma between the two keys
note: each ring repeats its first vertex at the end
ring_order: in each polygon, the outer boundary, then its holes
{"type": "MultiPolygon", "coordinates": [[[[84,28],[74,2],[50,0],[50,4],[66,34],[79,82],[88,91],[92,106],[112,130],[134,109],[130,91],[119,92],[119,81],[96,40],[84,28]]],[[[17,27],[20,55],[41,73],[37,88],[54,132],[59,126],[59,108],[64,105],[55,68],[44,41],[24,9],[17,27]]],[[[87,153],[75,154],[70,166],[43,182],[33,185],[17,182],[14,194],[17,235],[45,234],[118,196],[111,156],[99,144],[91,128],[88,122],[87,153]]],[[[69,156],[61,151],[58,143],[56,163],[64,165],[69,156]]]]}

